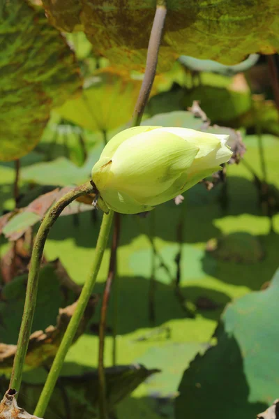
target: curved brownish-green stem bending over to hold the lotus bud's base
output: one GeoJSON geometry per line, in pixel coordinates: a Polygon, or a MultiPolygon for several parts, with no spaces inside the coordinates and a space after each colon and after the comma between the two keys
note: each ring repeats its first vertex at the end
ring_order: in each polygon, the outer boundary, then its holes
{"type": "Polygon", "coordinates": [[[78,186],[72,191],[66,193],[51,209],[40,224],[35,242],[33,244],[33,251],[30,260],[29,275],[27,282],[27,294],[25,297],[24,311],[22,315],[22,323],[20,325],[20,335],[17,341],[17,351],[15,353],[15,360],[13,362],[13,372],[10,378],[10,388],[20,390],[20,383],[22,381],[22,372],[24,368],[24,359],[27,354],[29,345],[29,336],[33,323],[33,315],[36,307],[37,293],[38,293],[38,279],[40,271],[40,261],[43,256],[43,249],[45,240],[50,232],[54,222],[59,217],[63,209],[69,205],[73,200],[86,193],[92,193],[93,186],[90,182],[82,186],[78,186]]]}

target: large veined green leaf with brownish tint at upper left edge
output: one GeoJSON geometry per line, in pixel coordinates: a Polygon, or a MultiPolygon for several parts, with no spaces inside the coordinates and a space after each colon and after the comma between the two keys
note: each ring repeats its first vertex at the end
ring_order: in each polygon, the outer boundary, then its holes
{"type": "Polygon", "coordinates": [[[52,106],[80,87],[75,56],[41,9],[1,1],[0,160],[33,149],[52,106]]]}

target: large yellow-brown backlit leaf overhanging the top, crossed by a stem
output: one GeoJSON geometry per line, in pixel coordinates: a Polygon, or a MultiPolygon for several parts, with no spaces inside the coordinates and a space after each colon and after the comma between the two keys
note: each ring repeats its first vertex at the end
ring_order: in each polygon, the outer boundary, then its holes
{"type": "MultiPolygon", "coordinates": [[[[156,2],[128,0],[43,0],[54,26],[83,29],[93,50],[112,63],[144,68],[156,2]]],[[[279,47],[277,0],[167,1],[159,67],[179,55],[237,64],[247,54],[272,54],[279,47]]]]}

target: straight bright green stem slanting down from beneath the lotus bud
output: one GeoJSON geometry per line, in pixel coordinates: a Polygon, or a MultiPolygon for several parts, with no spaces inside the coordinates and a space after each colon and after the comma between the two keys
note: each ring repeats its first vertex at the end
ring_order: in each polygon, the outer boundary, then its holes
{"type": "Polygon", "coordinates": [[[86,305],[88,304],[89,298],[91,297],[93,287],[96,283],[97,275],[100,269],[100,264],[103,259],[103,253],[107,246],[107,240],[110,235],[110,226],[112,224],[113,216],[114,212],[112,210],[110,210],[108,214],[103,215],[103,221],[100,226],[100,233],[98,235],[96,244],[93,265],[90,271],[91,274],[89,274],[89,277],[84,283],[82,293],[80,294],[79,300],[77,302],[77,307],[73,317],[70,319],[68,328],[65,332],[65,335],[63,336],[59,349],[56,353],[56,357],[54,358],[54,362],[52,363],[50,373],[47,376],[47,381],[45,381],[43,391],[40,394],[40,399],[38,400],[38,404],[34,412],[35,416],[43,417],[45,414],[45,410],[47,409],[47,405],[50,402],[50,397],[52,396],[57,378],[59,377],[63,362],[66,358],[66,354],[73,342],[73,338],[75,337],[77,328],[80,325],[82,315],[84,314],[86,305]]]}

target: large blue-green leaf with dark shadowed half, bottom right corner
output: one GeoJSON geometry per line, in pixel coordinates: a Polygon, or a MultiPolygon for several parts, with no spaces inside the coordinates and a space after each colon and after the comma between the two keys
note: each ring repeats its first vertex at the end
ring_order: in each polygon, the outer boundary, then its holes
{"type": "Polygon", "coordinates": [[[218,344],[184,373],[176,418],[255,418],[278,397],[279,270],[269,288],[239,298],[222,316],[218,344]],[[214,412],[214,413],[213,413],[214,412]]]}

